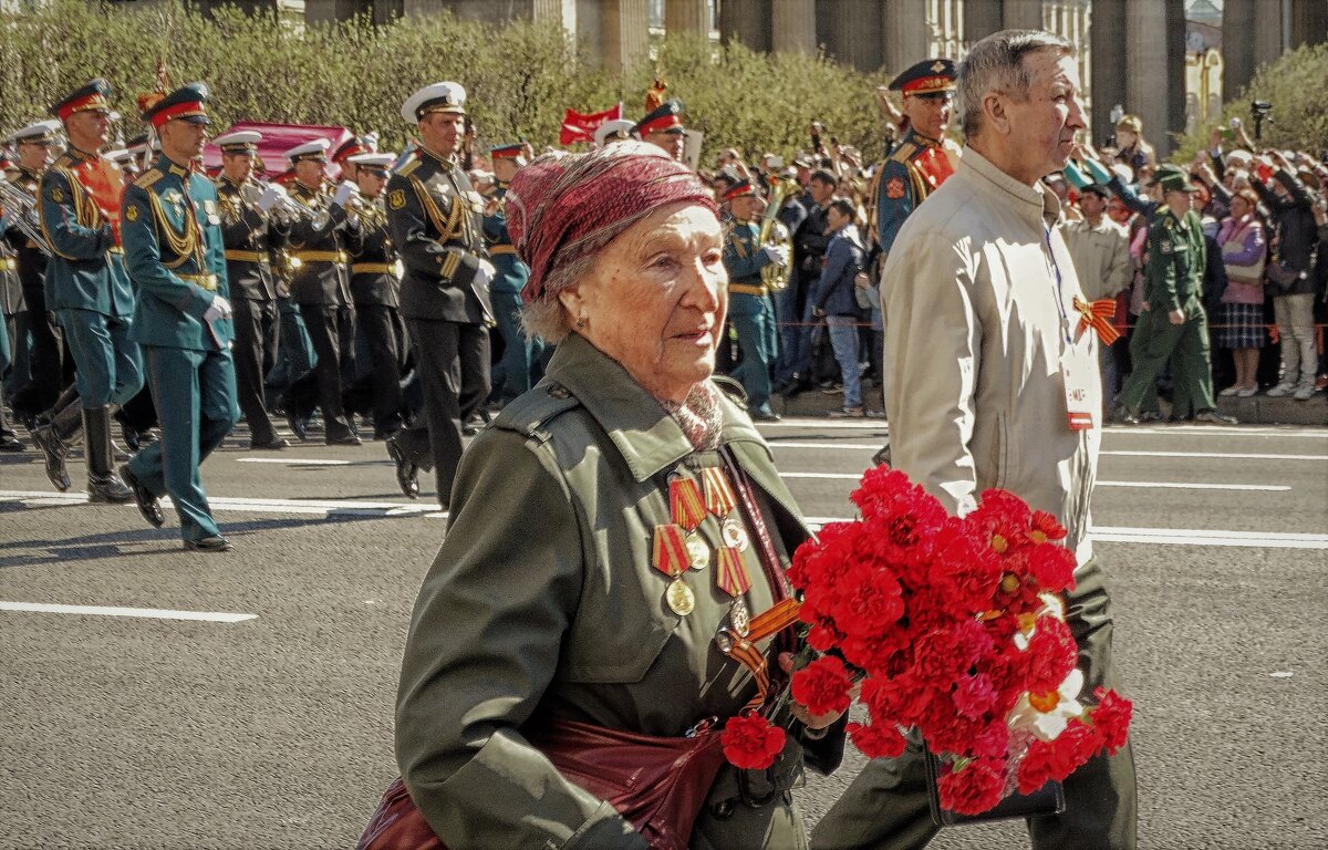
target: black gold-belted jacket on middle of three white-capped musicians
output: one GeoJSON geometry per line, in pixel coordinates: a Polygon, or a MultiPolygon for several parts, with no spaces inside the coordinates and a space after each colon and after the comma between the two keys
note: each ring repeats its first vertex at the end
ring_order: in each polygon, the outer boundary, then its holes
{"type": "Polygon", "coordinates": [[[332,203],[323,189],[296,181],[291,197],[309,210],[291,223],[290,248],[300,260],[291,275],[291,300],[296,304],[349,307],[351,255],[360,250],[363,231],[344,209],[332,203]]]}

